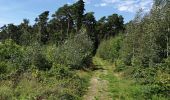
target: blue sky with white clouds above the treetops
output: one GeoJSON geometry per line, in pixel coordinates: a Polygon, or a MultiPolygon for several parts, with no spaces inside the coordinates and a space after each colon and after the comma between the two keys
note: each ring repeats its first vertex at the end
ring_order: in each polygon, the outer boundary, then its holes
{"type": "MultiPolygon", "coordinates": [[[[4,24],[20,24],[24,18],[34,24],[34,19],[43,11],[53,14],[64,4],[73,4],[77,0],[0,0],[0,26],[4,24]]],[[[96,19],[117,13],[124,21],[132,20],[135,13],[142,8],[148,12],[153,0],[84,0],[85,12],[94,12],[96,19]]]]}

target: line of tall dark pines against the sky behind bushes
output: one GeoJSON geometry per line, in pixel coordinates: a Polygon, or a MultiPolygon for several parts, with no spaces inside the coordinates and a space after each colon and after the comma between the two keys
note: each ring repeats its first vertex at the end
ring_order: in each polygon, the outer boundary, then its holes
{"type": "Polygon", "coordinates": [[[49,11],[44,11],[35,18],[34,25],[30,25],[28,19],[24,19],[19,25],[4,25],[1,27],[0,40],[10,38],[19,45],[31,45],[32,42],[60,45],[77,34],[81,28],[85,28],[97,47],[103,38],[124,31],[121,15],[112,14],[96,21],[94,12],[85,13],[83,0],[60,7],[51,17],[49,19],[49,11]]]}

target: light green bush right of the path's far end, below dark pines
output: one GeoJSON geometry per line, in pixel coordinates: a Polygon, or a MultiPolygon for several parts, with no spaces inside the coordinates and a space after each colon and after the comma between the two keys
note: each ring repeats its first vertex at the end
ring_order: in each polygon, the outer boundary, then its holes
{"type": "Polygon", "coordinates": [[[116,61],[119,57],[122,39],[122,36],[117,36],[101,42],[97,50],[97,56],[112,62],[116,61]]]}

